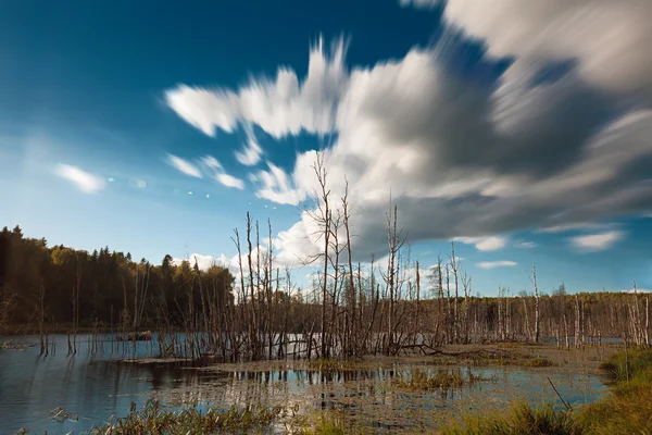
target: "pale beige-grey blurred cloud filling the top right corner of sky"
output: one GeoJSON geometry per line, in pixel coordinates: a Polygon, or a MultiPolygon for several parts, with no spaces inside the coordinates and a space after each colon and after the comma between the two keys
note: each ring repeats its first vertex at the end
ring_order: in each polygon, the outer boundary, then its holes
{"type": "MultiPolygon", "coordinates": [[[[424,8],[440,2],[412,3],[424,8]]],[[[579,74],[592,85],[650,92],[651,8],[645,0],[448,0],[444,18],[482,39],[490,54],[516,57],[514,72],[541,60],[576,60],[579,74]]]]}

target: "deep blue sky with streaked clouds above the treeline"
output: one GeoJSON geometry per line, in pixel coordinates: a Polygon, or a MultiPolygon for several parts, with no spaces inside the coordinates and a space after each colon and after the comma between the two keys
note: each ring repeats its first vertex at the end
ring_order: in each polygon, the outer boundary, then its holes
{"type": "MultiPolygon", "coordinates": [[[[474,293],[652,288],[647,0],[4,2],[0,226],[234,265],[259,220],[318,251],[317,152],[356,261],[474,293]]],[[[303,268],[305,269],[305,268],[303,268]]],[[[309,268],[310,269],[310,268],[309,268]]],[[[309,271],[310,272],[310,271],[309,271]]],[[[306,273],[299,268],[301,281],[306,273]]]]}

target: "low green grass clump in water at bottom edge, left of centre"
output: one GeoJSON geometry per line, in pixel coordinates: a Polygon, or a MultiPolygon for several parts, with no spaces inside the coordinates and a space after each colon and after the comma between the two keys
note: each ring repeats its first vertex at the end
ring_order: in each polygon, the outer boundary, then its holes
{"type": "Polygon", "coordinates": [[[149,400],[141,410],[131,403],[127,417],[115,419],[91,433],[102,435],[129,434],[215,434],[247,433],[269,427],[280,417],[283,409],[265,407],[230,408],[220,410],[209,408],[202,412],[190,407],[180,411],[166,411],[160,408],[156,400],[149,400]]]}

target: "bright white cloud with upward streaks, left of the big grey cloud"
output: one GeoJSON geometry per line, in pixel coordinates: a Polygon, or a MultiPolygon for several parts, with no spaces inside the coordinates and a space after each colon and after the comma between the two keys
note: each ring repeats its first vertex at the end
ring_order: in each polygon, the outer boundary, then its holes
{"type": "Polygon", "coordinates": [[[179,85],[165,98],[179,116],[209,136],[216,127],[230,133],[238,122],[256,124],[276,138],[301,130],[327,134],[334,129],[336,104],[347,83],[344,54],[343,39],[327,57],[319,38],[302,83],[292,70],[279,67],[275,80],[252,80],[238,92],[179,85]]]}

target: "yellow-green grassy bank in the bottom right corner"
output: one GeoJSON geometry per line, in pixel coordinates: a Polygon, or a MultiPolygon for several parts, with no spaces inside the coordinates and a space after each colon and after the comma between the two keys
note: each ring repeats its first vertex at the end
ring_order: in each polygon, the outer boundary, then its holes
{"type": "Polygon", "coordinates": [[[602,400],[576,410],[534,408],[517,402],[509,411],[467,417],[440,431],[447,435],[652,434],[652,350],[612,355],[601,364],[613,378],[602,400]]]}

